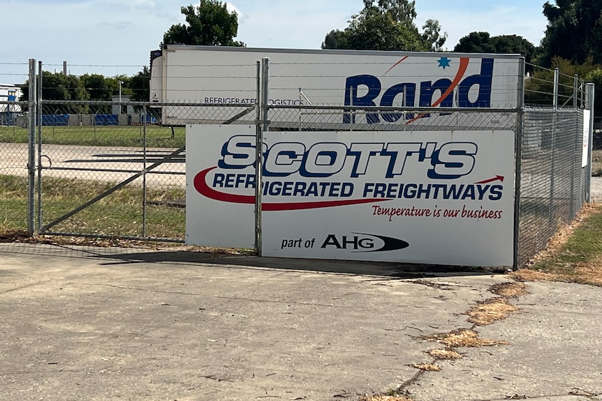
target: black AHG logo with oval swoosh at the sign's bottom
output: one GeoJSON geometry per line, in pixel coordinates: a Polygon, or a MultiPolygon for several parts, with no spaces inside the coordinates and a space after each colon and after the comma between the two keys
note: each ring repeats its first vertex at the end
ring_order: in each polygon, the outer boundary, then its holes
{"type": "Polygon", "coordinates": [[[353,252],[386,252],[408,248],[410,245],[406,241],[390,236],[364,234],[361,232],[354,232],[352,234],[353,236],[328,234],[320,248],[326,249],[333,246],[337,249],[351,249],[353,252]]]}

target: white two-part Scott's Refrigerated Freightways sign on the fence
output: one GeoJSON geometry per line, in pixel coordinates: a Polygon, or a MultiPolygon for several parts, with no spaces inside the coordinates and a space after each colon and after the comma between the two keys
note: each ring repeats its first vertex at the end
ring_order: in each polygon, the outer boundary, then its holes
{"type": "MultiPolygon", "coordinates": [[[[255,136],[240,128],[190,131],[203,160],[192,170],[186,165],[197,192],[187,197],[187,211],[212,219],[214,245],[228,239],[228,229],[251,242],[255,136]]],[[[263,255],[513,264],[512,131],[264,135],[263,255]]],[[[187,222],[189,243],[208,240],[198,230],[187,222]]]]}

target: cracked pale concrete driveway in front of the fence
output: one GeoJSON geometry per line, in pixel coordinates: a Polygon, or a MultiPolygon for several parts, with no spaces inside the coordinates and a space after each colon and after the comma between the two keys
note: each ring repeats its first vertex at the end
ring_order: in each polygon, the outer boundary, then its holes
{"type": "MultiPolygon", "coordinates": [[[[425,336],[506,275],[455,268],[0,244],[0,400],[592,400],[602,289],[529,284],[437,361],[425,336]],[[589,396],[589,398],[588,398],[589,396]]],[[[596,399],[596,398],[594,398],[596,399]]],[[[597,398],[602,400],[602,398],[597,398]]]]}

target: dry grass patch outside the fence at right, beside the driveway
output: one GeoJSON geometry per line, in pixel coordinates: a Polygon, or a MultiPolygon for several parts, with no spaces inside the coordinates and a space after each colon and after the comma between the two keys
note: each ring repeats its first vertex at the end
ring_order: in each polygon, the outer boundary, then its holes
{"type": "Polygon", "coordinates": [[[515,278],[602,287],[602,205],[587,206],[578,222],[562,227],[528,268],[515,272],[515,278]]]}

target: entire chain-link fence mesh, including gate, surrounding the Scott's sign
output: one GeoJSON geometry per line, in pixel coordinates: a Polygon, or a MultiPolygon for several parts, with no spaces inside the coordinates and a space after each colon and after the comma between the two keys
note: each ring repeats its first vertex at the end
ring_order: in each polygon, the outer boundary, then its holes
{"type": "MultiPolygon", "coordinates": [[[[411,131],[418,135],[425,131],[511,130],[522,156],[515,160],[520,193],[515,203],[519,206],[515,211],[515,265],[522,266],[587,200],[589,171],[581,164],[585,93],[583,83],[575,80],[571,98],[568,78],[564,76],[567,84],[559,91],[564,101],[555,99],[554,93],[549,96],[548,89],[531,87],[532,104],[543,105],[531,105],[524,112],[453,107],[436,112],[418,107],[260,107],[258,99],[241,104],[41,100],[35,103],[32,127],[28,103],[0,99],[0,229],[31,228],[34,216],[34,232],[39,234],[183,242],[185,124],[189,123],[269,125],[270,130],[298,132],[411,131]],[[561,103],[573,107],[564,109],[561,103]],[[30,165],[32,155],[35,158],[30,165]],[[29,192],[32,184],[35,191],[29,192]],[[34,213],[28,207],[31,193],[36,201],[34,213]]],[[[594,123],[594,149],[601,147],[598,125],[599,119],[594,123]]]]}

